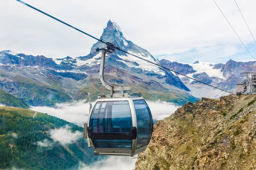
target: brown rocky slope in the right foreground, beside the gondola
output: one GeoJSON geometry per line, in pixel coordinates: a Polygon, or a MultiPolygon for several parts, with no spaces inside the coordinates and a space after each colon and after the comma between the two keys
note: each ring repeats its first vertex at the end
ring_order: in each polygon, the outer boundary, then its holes
{"type": "Polygon", "coordinates": [[[136,170],[255,170],[256,95],[203,98],[157,121],[136,170]]]}

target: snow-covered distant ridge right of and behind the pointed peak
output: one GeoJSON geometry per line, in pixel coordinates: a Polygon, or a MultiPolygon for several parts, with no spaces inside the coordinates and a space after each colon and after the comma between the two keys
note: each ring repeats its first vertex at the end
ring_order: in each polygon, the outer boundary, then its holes
{"type": "MultiPolygon", "coordinates": [[[[215,64],[210,62],[196,61],[193,64],[177,62],[174,60],[162,59],[160,64],[174,71],[193,77],[210,85],[224,89],[230,92],[236,92],[240,89],[236,84],[242,82],[245,77],[241,72],[255,71],[256,62],[236,62],[230,59],[226,64],[215,64]]],[[[213,97],[226,95],[227,93],[211,88],[200,82],[178,75],[182,82],[191,90],[190,94],[195,97],[213,97]]]]}

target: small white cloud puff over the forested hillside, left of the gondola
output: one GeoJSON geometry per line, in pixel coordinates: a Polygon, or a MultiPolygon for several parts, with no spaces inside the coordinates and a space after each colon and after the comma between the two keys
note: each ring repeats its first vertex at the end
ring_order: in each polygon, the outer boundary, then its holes
{"type": "Polygon", "coordinates": [[[65,127],[59,129],[50,130],[50,135],[54,142],[60,142],[60,144],[66,145],[76,142],[77,139],[83,136],[83,133],[79,131],[73,133],[70,130],[70,127],[66,125],[65,127]]]}

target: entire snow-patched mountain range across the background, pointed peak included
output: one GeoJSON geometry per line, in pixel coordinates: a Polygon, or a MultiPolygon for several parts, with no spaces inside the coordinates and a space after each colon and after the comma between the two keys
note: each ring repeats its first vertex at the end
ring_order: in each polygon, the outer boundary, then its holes
{"type": "MultiPolygon", "coordinates": [[[[256,68],[255,62],[233,60],[225,64],[199,61],[187,64],[167,59],[159,61],[145,49],[126,40],[119,26],[111,20],[100,39],[151,62],[231,92],[237,90],[236,83],[244,80],[240,72],[254,71],[256,68]]],[[[96,42],[90,54],[62,59],[1,51],[0,88],[34,106],[53,106],[56,102],[84,99],[86,92],[91,92],[96,98],[99,93],[108,93],[99,81],[101,52],[96,51],[96,48],[104,46],[103,43],[96,42]]],[[[117,50],[113,54],[107,54],[105,67],[105,77],[110,84],[130,86],[133,92],[142,92],[145,99],[185,104],[187,101],[194,102],[195,97],[218,97],[226,94],[117,50]]]]}

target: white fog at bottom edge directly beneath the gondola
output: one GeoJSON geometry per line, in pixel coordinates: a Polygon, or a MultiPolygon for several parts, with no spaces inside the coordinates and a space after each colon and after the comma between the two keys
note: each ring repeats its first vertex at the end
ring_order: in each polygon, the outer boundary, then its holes
{"type": "Polygon", "coordinates": [[[109,156],[108,159],[94,162],[92,166],[80,167],[79,170],[134,170],[137,159],[127,156],[109,156]]]}

